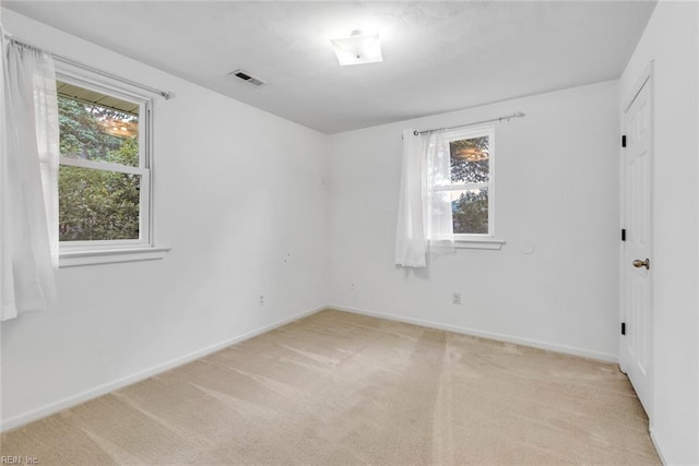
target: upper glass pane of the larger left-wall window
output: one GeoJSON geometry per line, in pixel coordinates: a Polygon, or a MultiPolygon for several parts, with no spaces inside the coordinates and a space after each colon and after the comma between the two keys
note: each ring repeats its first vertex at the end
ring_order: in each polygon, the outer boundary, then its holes
{"type": "Polygon", "coordinates": [[[63,157],[139,166],[139,104],[56,83],[63,157]]]}

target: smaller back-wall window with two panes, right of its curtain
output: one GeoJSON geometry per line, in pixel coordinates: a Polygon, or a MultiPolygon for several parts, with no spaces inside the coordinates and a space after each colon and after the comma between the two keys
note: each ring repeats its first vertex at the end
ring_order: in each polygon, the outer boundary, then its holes
{"type": "Polygon", "coordinates": [[[454,130],[445,134],[449,144],[451,183],[448,191],[455,241],[494,236],[493,157],[494,129],[454,130]]]}

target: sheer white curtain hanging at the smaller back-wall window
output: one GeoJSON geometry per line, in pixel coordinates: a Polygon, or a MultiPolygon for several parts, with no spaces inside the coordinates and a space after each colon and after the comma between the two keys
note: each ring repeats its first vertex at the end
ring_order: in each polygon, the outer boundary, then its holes
{"type": "Polygon", "coordinates": [[[443,132],[403,131],[395,263],[425,267],[426,252],[453,252],[451,159],[443,132]]]}

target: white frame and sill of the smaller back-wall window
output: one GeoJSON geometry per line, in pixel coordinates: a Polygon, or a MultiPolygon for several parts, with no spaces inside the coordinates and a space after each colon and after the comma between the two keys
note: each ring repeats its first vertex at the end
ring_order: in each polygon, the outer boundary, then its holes
{"type": "Polygon", "coordinates": [[[505,241],[495,237],[495,127],[460,128],[445,133],[448,143],[482,136],[488,136],[488,181],[473,183],[451,183],[438,187],[440,191],[462,191],[469,189],[488,190],[488,232],[487,234],[454,234],[454,246],[465,249],[500,249],[505,241]]]}

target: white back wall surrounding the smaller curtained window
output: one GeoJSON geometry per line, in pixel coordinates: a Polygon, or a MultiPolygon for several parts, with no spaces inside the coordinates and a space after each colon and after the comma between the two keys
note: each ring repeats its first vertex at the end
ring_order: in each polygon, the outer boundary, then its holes
{"type": "Polygon", "coordinates": [[[617,82],[606,82],[331,136],[332,303],[616,360],[617,103],[617,82]],[[513,111],[526,117],[495,135],[496,236],[507,244],[396,268],[401,129],[513,111]],[[528,243],[533,254],[521,252],[528,243]]]}

